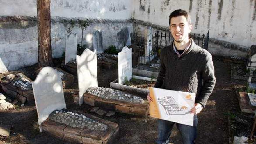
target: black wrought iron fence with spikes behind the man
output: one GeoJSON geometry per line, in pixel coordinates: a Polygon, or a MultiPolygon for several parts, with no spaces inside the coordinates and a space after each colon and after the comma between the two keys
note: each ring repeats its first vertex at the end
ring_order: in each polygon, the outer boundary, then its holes
{"type": "MultiPolygon", "coordinates": [[[[190,34],[189,37],[192,38],[197,45],[208,50],[209,31],[206,38],[204,34],[190,34]]],[[[139,41],[135,42],[133,47],[133,68],[159,71],[160,49],[170,46],[172,42],[173,37],[171,33],[165,32],[163,34],[162,32],[159,33],[159,31],[156,31],[153,35],[148,36],[147,39],[145,39],[145,35],[142,35],[139,41]]]]}

